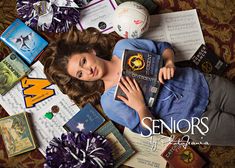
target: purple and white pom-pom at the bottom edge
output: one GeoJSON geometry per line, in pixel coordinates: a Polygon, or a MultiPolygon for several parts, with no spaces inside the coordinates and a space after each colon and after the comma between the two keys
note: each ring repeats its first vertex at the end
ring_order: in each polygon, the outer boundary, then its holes
{"type": "Polygon", "coordinates": [[[53,138],[46,149],[45,168],[113,167],[111,145],[95,133],[62,134],[53,138]]]}

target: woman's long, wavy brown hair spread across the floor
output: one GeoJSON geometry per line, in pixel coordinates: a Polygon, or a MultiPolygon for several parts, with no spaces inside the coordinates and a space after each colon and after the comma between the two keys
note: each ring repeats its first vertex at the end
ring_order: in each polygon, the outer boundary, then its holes
{"type": "Polygon", "coordinates": [[[43,60],[44,72],[48,80],[56,84],[78,106],[86,103],[99,103],[104,92],[104,83],[98,81],[82,81],[70,76],[67,72],[68,60],[73,54],[91,52],[95,50],[100,58],[110,60],[113,47],[119,40],[115,34],[101,34],[95,28],[79,31],[72,28],[68,33],[50,43],[43,60]]]}

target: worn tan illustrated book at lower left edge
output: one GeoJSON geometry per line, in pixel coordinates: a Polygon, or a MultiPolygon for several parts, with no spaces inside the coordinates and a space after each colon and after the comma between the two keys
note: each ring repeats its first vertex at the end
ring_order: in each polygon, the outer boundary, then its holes
{"type": "Polygon", "coordinates": [[[26,112],[1,119],[0,131],[9,157],[36,148],[26,112]]]}

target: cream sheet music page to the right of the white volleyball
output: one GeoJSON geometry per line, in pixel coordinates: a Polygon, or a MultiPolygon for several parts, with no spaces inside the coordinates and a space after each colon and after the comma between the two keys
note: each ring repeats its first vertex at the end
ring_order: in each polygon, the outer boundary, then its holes
{"type": "Polygon", "coordinates": [[[171,43],[176,62],[189,60],[205,44],[196,9],[151,15],[143,37],[171,43]]]}

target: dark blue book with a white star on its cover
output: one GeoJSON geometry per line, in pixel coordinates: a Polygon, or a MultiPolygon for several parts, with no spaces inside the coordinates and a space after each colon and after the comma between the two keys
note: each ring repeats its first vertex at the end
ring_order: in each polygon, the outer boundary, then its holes
{"type": "Polygon", "coordinates": [[[87,104],[77,114],[75,114],[63,127],[67,131],[85,133],[95,131],[105,119],[91,105],[87,104]]]}

